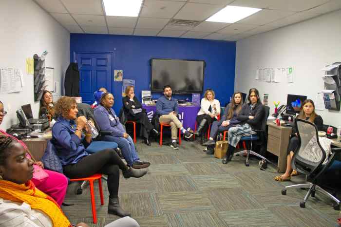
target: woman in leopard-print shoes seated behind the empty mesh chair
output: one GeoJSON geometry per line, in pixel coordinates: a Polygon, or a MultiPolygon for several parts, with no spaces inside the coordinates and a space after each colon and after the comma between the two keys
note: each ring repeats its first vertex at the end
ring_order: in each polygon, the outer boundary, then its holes
{"type": "MultiPolygon", "coordinates": [[[[318,130],[323,130],[323,119],[320,115],[315,114],[315,105],[313,100],[307,99],[302,104],[302,110],[297,118],[307,120],[313,122],[318,130]]],[[[297,129],[296,127],[292,127],[290,141],[287,149],[287,158],[286,158],[286,170],[283,175],[278,175],[274,179],[276,181],[288,181],[291,176],[298,175],[296,170],[293,170],[291,167],[291,159],[294,156],[294,152],[300,146],[300,140],[297,137],[297,129]]]]}

